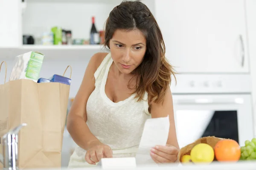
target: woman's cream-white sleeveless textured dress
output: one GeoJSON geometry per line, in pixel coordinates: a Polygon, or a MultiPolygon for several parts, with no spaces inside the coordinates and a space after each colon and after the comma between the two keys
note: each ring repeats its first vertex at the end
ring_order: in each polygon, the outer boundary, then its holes
{"type": "MultiPolygon", "coordinates": [[[[137,102],[135,94],[120,102],[112,102],[105,94],[105,85],[113,59],[109,53],[94,73],[95,89],[87,101],[87,125],[103,144],[113,150],[113,157],[134,157],[140,144],[148,113],[148,94],[137,102]]],[[[69,167],[95,166],[85,159],[86,150],[79,146],[70,157],[69,167]]]]}

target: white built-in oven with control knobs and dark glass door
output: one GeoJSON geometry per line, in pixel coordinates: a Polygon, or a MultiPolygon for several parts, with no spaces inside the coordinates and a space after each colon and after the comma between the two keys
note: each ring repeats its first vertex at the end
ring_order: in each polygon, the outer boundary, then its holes
{"type": "Polygon", "coordinates": [[[255,136],[250,75],[178,74],[171,91],[180,147],[204,136],[240,145],[255,136]]]}

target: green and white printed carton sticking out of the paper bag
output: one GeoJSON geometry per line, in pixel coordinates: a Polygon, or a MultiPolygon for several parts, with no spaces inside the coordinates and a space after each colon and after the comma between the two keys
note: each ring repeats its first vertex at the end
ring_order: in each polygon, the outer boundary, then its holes
{"type": "Polygon", "coordinates": [[[29,51],[15,58],[10,81],[17,79],[31,79],[38,81],[39,73],[44,60],[44,54],[37,51],[29,51]]]}

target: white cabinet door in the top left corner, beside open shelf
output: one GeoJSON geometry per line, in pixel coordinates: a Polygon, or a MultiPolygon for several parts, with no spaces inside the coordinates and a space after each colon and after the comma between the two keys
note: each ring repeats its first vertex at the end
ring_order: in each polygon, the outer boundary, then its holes
{"type": "Polygon", "coordinates": [[[22,45],[21,0],[0,0],[0,48],[22,45]]]}

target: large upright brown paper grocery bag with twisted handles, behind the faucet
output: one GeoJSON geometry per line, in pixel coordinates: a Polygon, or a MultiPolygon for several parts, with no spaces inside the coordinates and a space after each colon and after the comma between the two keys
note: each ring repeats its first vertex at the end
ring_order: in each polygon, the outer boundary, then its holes
{"type": "Polygon", "coordinates": [[[19,133],[19,168],[61,167],[69,92],[70,85],[29,79],[0,85],[0,136],[27,124],[19,133]]]}

